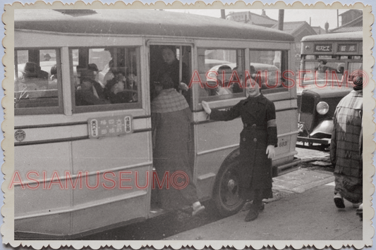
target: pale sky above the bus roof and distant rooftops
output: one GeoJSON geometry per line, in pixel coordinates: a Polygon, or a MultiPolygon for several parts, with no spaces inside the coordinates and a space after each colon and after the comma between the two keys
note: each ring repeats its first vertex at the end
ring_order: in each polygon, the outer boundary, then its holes
{"type": "MultiPolygon", "coordinates": [[[[176,12],[185,12],[197,15],[209,15],[214,18],[221,17],[221,11],[219,9],[198,9],[198,10],[181,10],[181,9],[170,9],[166,11],[176,11],[176,12]]],[[[252,13],[256,13],[261,15],[261,9],[226,9],[225,13],[228,15],[231,11],[233,12],[242,12],[242,11],[250,11],[252,13]]],[[[339,10],[339,14],[344,13],[347,10],[339,10]]],[[[269,18],[274,20],[278,20],[278,9],[265,9],[265,13],[269,18]]],[[[312,26],[320,26],[325,29],[325,23],[329,23],[329,30],[334,29],[337,27],[337,18],[336,18],[336,10],[302,10],[302,9],[290,9],[284,11],[284,22],[293,22],[293,21],[306,21],[310,23],[312,26]]],[[[341,17],[339,17],[339,25],[341,25],[341,17]]]]}

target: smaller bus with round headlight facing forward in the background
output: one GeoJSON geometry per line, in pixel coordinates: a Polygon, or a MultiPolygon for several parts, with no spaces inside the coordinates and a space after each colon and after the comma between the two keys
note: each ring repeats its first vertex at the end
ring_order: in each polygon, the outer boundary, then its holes
{"type": "Polygon", "coordinates": [[[329,148],[336,105],[353,89],[354,77],[364,76],[362,69],[363,32],[303,37],[297,91],[298,142],[303,143],[299,146],[329,148]]]}

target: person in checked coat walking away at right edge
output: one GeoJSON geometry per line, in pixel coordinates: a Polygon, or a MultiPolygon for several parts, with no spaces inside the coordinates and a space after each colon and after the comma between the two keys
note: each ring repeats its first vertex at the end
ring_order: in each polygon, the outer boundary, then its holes
{"type": "Polygon", "coordinates": [[[353,90],[336,106],[330,144],[334,165],[334,204],[345,208],[344,199],[358,208],[363,201],[363,79],[356,77],[353,90]]]}

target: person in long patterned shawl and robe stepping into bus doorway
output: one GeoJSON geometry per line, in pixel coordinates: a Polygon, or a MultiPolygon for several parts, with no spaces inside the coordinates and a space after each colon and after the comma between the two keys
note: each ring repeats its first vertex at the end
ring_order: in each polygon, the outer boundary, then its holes
{"type": "Polygon", "coordinates": [[[158,205],[166,210],[192,206],[192,215],[198,215],[205,207],[198,201],[188,158],[192,113],[184,96],[174,89],[169,75],[163,75],[156,87],[159,94],[151,105],[154,168],[159,180],[166,174],[171,177],[176,171],[188,177],[188,185],[183,189],[157,187],[158,205]]]}

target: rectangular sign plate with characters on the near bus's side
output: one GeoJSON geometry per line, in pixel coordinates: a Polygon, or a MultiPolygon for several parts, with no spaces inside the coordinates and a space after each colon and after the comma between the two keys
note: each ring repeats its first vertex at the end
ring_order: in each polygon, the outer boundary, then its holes
{"type": "Polygon", "coordinates": [[[133,132],[132,116],[117,115],[87,120],[90,138],[114,137],[133,132]]]}

